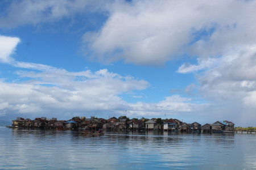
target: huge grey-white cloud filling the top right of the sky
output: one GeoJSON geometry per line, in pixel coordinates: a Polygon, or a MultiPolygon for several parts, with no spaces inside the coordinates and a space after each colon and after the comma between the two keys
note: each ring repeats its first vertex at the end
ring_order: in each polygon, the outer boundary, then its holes
{"type": "Polygon", "coordinates": [[[219,56],[255,42],[252,6],[255,1],[118,1],[100,31],[84,35],[86,50],[102,62],[154,66],[182,54],[219,56]]]}

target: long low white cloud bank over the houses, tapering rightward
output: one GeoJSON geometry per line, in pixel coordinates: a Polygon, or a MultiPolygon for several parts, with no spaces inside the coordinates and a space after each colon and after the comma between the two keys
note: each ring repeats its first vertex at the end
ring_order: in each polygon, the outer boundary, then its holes
{"type": "Polygon", "coordinates": [[[16,74],[30,80],[16,83],[0,81],[1,113],[29,117],[42,114],[51,117],[54,113],[55,117],[70,118],[122,115],[127,110],[127,116],[154,117],[205,108],[205,104],[195,104],[192,99],[179,95],[168,96],[158,103],[127,103],[120,95],[143,90],[149,86],[148,82],[110,73],[106,69],[94,73],[90,70],[80,73],[57,70],[41,73],[18,71],[16,74]]]}

